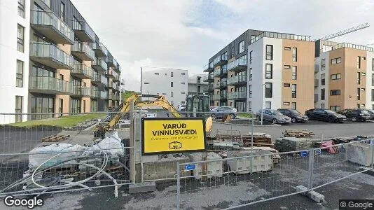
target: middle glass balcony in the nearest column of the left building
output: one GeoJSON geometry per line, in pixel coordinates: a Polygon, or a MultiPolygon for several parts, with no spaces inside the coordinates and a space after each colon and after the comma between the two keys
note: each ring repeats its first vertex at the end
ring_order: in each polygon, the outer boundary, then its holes
{"type": "Polygon", "coordinates": [[[30,43],[30,59],[53,69],[73,69],[74,59],[52,43],[30,43]]]}

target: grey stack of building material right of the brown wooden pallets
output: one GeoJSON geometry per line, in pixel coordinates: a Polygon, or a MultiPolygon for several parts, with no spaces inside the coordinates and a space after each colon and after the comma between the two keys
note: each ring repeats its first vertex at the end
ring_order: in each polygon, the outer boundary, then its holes
{"type": "Polygon", "coordinates": [[[310,146],[312,146],[312,141],[306,138],[283,137],[275,141],[275,148],[282,152],[302,151],[310,146]]]}

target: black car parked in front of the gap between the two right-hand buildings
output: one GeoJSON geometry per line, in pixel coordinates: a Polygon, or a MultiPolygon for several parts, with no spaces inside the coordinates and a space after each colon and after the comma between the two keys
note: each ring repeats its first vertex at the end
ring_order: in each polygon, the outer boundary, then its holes
{"type": "Polygon", "coordinates": [[[328,123],[344,123],[347,117],[328,109],[310,109],[305,111],[310,120],[326,121],[328,123]]]}

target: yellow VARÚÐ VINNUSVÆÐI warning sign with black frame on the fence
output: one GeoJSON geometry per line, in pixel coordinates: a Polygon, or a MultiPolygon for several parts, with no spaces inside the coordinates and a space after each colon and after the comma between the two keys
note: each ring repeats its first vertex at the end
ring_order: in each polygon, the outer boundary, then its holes
{"type": "Polygon", "coordinates": [[[203,118],[143,118],[143,153],[205,151],[203,118]]]}

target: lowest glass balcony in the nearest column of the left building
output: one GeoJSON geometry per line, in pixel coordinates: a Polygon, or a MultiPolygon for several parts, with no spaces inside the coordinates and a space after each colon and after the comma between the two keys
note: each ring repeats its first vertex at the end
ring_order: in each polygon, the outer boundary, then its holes
{"type": "Polygon", "coordinates": [[[42,94],[69,94],[71,83],[54,77],[29,76],[29,92],[42,94]]]}

